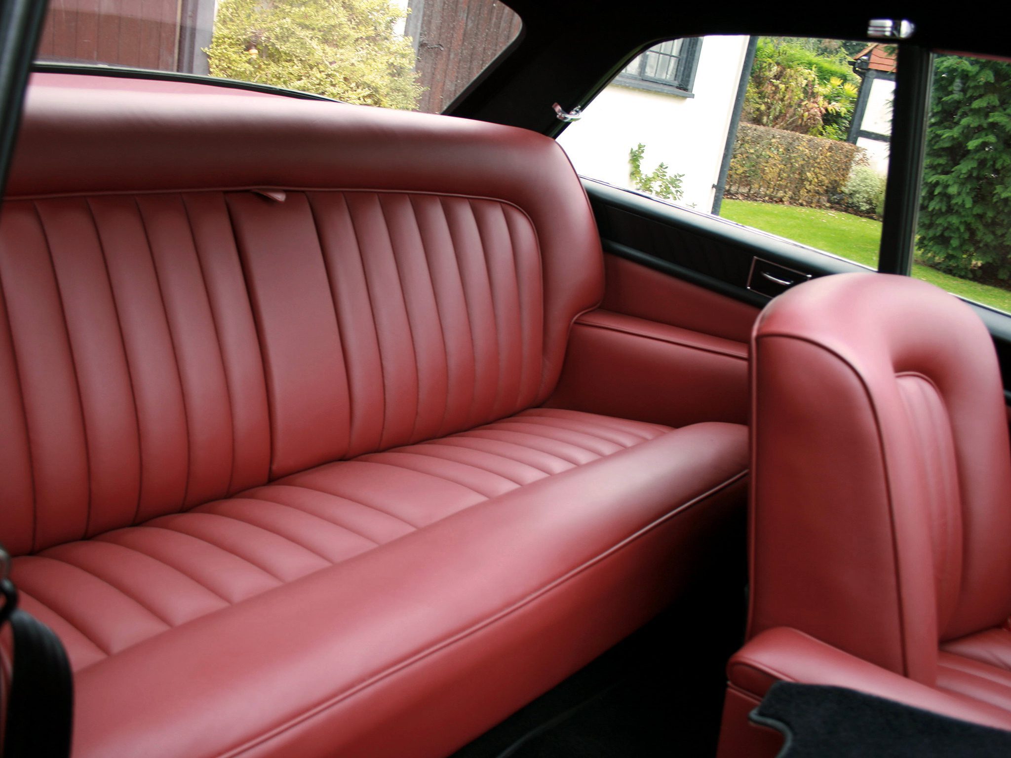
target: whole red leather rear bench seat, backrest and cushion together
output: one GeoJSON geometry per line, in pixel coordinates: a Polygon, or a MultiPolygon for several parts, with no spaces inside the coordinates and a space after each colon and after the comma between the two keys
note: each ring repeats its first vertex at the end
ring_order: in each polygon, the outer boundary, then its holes
{"type": "Polygon", "coordinates": [[[77,756],[438,756],[667,603],[742,427],[539,409],[603,292],[545,137],[36,76],[0,540],[77,756]]]}

